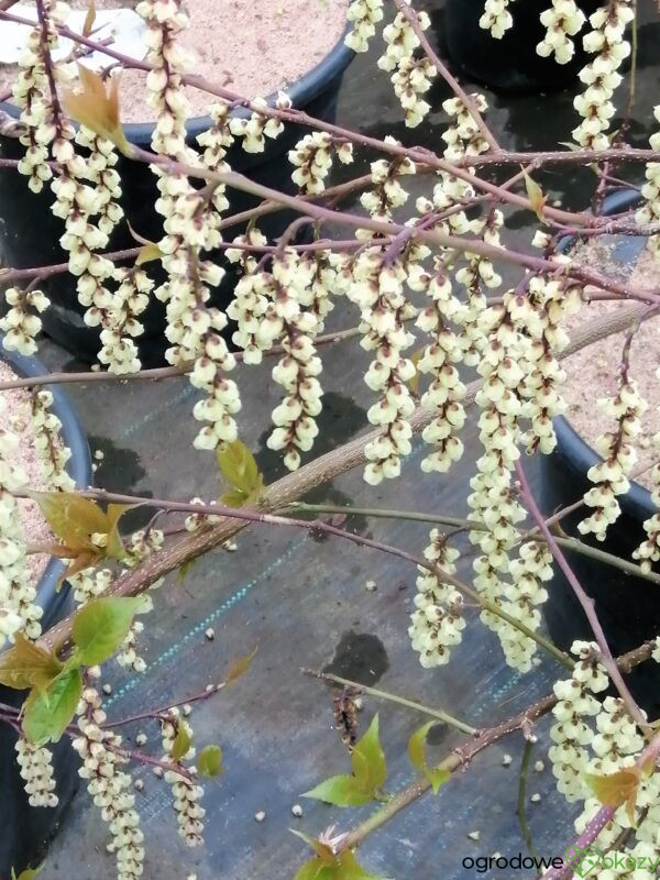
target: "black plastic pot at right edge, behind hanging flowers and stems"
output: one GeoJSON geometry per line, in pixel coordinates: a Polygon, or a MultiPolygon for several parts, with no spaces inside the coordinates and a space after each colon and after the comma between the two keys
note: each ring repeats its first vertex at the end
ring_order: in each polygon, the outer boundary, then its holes
{"type": "MultiPolygon", "coordinates": [[[[618,194],[606,200],[604,212],[615,213],[630,208],[638,198],[635,193],[618,194]]],[[[632,263],[645,245],[645,239],[639,237],[610,238],[615,244],[610,258],[622,266],[632,263]]],[[[616,363],[619,356],[620,352],[613,352],[613,362],[616,363]]],[[[541,457],[541,503],[547,515],[579,501],[592,485],[586,476],[588,469],[601,461],[565,418],[556,419],[554,428],[557,449],[551,455],[541,457]]],[[[584,507],[562,519],[562,528],[593,547],[630,560],[632,551],[646,537],[644,521],[657,508],[650,493],[637,483],[631,483],[629,492],[618,501],[622,514],[608,528],[604,542],[578,532],[578,522],[587,515],[584,507]]],[[[566,556],[578,580],[595,602],[598,619],[615,656],[660,635],[658,586],[582,554],[566,556]]],[[[546,620],[553,641],[568,648],[574,639],[593,638],[584,612],[561,573],[556,574],[549,592],[546,620]]],[[[634,695],[652,717],[657,717],[660,713],[660,664],[644,663],[631,673],[629,681],[634,695]]]]}

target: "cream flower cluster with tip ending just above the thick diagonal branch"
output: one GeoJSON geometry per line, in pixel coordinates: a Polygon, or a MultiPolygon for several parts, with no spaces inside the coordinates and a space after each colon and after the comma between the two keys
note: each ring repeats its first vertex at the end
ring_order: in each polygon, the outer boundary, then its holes
{"type": "Polygon", "coordinates": [[[274,431],[267,446],[284,452],[289,471],[300,465],[300,451],[308,452],[318,435],[316,417],[321,411],[322,391],[317,378],[322,365],[316,353],[318,319],[301,308],[311,285],[314,263],[298,260],[287,249],[273,263],[275,285],[270,326],[283,336],[284,355],[273,367],[273,378],[282,385],[286,397],[273,410],[274,431]]]}

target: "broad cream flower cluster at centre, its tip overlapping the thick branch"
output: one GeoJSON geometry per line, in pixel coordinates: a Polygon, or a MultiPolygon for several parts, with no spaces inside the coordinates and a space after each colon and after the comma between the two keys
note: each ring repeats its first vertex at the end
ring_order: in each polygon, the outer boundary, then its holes
{"type": "Polygon", "coordinates": [[[411,449],[408,417],[415,403],[408,383],[415,365],[403,352],[413,344],[405,320],[414,310],[404,294],[406,275],[400,261],[386,265],[381,253],[371,249],[355,260],[353,282],[346,289],[349,299],[361,310],[362,348],[375,353],[364,376],[369,387],[380,393],[367,413],[371,424],[380,427],[380,435],[364,450],[369,461],[364,479],[373,486],[398,476],[402,455],[408,455],[411,449]]]}

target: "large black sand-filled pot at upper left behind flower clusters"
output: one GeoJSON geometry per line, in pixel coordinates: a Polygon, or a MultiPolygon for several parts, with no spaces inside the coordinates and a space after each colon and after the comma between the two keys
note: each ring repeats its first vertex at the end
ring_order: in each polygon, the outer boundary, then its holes
{"type": "MultiPolygon", "coordinates": [[[[337,98],[343,74],[354,57],[354,53],[344,45],[343,37],[312,70],[294,82],[288,89],[293,106],[305,110],[310,116],[324,121],[334,120],[337,98]]],[[[274,99],[273,99],[274,100],[274,99]]],[[[272,101],[273,102],[273,101],[272,101]]],[[[11,105],[0,105],[0,109],[15,114],[11,105]]],[[[248,117],[244,108],[235,111],[237,116],[248,117]]],[[[187,124],[188,143],[195,145],[196,138],[211,124],[209,117],[190,119],[187,124]]],[[[138,146],[148,148],[153,125],[129,123],[124,125],[129,141],[138,146]]],[[[266,139],[263,153],[245,153],[240,144],[229,151],[227,157],[231,167],[250,177],[252,180],[294,194],[296,187],[292,180],[292,166],[287,152],[304,135],[300,125],[287,124],[285,131],[274,141],[266,139]]],[[[0,139],[2,154],[7,157],[20,157],[23,147],[13,139],[0,139]]],[[[125,219],[141,235],[150,240],[162,237],[162,218],[154,211],[157,196],[154,175],[144,163],[121,158],[118,165],[122,178],[121,204],[125,219]]],[[[230,209],[228,216],[238,213],[257,204],[257,199],[239,193],[228,191],[230,209]]],[[[0,169],[0,253],[3,263],[12,268],[51,265],[66,262],[67,255],[59,245],[64,232],[62,220],[51,212],[52,194],[44,187],[40,195],[33,195],[25,184],[25,178],[13,169],[0,169]]],[[[268,237],[280,235],[292,222],[293,211],[277,211],[260,219],[260,229],[268,237]]],[[[244,231],[243,226],[228,230],[233,238],[244,231]]],[[[109,250],[117,251],[134,248],[125,222],[119,224],[109,243],[109,250]]],[[[211,255],[226,270],[220,286],[213,292],[213,302],[227,306],[237,283],[237,275],[221,253],[211,255]]],[[[155,264],[147,268],[156,277],[155,264]]],[[[162,279],[162,275],[157,280],[162,279]]],[[[51,307],[42,316],[45,332],[80,360],[92,362],[99,352],[99,331],[87,327],[82,321],[84,309],[76,297],[75,279],[62,274],[50,278],[43,288],[51,298],[51,307]]],[[[163,362],[163,353],[169,343],[164,338],[165,308],[154,297],[143,314],[141,321],[145,332],[135,340],[144,366],[153,366],[163,362]]],[[[231,330],[228,331],[228,337],[231,330]]]]}

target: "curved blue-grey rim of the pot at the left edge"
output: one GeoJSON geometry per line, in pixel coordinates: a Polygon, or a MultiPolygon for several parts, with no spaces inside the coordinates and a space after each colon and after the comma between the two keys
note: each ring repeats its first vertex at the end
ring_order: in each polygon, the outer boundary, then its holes
{"type": "MultiPolygon", "coordinates": [[[[8,351],[1,344],[0,360],[11,366],[21,376],[46,376],[51,372],[36,358],[8,351]]],[[[72,451],[67,462],[67,471],[76,484],[76,488],[87,488],[92,483],[91,455],[87,436],[78,419],[76,410],[59,385],[44,386],[53,394],[52,411],[62,422],[62,440],[72,451]]],[[[44,609],[43,622],[48,623],[66,601],[68,588],[57,592],[57,581],[66,570],[65,563],[56,557],[51,557],[40,578],[36,588],[37,603],[44,609]]]]}

